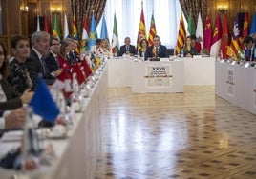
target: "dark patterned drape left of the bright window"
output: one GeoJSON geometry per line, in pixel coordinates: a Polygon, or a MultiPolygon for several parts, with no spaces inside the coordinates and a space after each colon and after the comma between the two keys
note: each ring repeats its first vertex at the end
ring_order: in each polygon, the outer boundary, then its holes
{"type": "Polygon", "coordinates": [[[91,25],[92,14],[95,14],[98,24],[104,12],[106,0],[71,0],[72,15],[75,16],[78,38],[82,35],[83,21],[86,17],[91,25]]]}

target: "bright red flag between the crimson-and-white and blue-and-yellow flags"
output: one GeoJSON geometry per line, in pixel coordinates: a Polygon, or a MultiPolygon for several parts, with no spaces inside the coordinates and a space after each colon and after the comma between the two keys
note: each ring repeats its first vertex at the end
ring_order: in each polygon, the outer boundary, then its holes
{"type": "Polygon", "coordinates": [[[227,22],[227,15],[226,13],[224,14],[224,27],[223,27],[223,36],[222,36],[222,43],[221,43],[221,50],[222,50],[222,58],[223,59],[226,59],[227,58],[227,50],[228,50],[228,47],[229,47],[229,33],[228,33],[228,22],[227,22]]]}

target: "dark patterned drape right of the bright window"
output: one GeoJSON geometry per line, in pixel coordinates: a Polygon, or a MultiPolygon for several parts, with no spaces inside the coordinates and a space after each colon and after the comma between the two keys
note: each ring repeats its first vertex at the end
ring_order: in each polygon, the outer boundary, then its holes
{"type": "Polygon", "coordinates": [[[206,0],[180,0],[182,12],[188,20],[188,15],[191,13],[195,26],[198,22],[198,15],[201,12],[203,24],[207,15],[207,3],[206,0]]]}

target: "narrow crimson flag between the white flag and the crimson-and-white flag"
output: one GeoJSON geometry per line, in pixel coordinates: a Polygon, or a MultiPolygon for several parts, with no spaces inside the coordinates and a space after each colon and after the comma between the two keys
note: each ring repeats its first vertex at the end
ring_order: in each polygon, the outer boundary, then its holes
{"type": "Polygon", "coordinates": [[[212,38],[212,30],[211,30],[211,20],[210,17],[207,15],[204,25],[204,32],[203,32],[203,48],[207,49],[208,52],[211,50],[211,38],[212,38]]]}

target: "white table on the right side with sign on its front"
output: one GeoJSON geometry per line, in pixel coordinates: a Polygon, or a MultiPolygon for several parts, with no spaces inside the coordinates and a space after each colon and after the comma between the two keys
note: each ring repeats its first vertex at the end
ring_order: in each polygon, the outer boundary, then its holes
{"type": "Polygon", "coordinates": [[[230,103],[256,114],[256,69],[216,62],[215,93],[230,103]]]}

